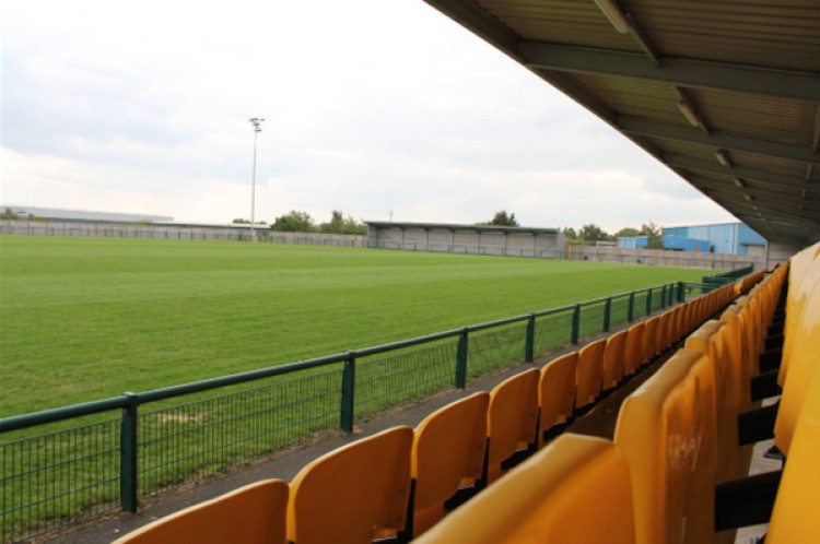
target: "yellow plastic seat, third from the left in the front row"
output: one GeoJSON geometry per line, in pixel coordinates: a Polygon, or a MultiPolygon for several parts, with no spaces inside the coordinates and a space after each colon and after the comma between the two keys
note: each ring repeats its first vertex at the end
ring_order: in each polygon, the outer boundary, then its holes
{"type": "Polygon", "coordinates": [[[432,413],[415,428],[413,535],[444,517],[444,502],[460,486],[481,478],[489,404],[490,393],[476,393],[432,413]]]}

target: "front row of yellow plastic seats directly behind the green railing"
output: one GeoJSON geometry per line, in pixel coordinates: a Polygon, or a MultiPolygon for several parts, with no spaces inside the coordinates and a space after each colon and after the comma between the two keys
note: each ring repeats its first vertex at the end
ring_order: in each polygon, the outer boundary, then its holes
{"type": "Polygon", "coordinates": [[[396,427],[341,447],[290,484],[253,484],[117,542],[409,541],[493,488],[520,459],[727,304],[734,289],[724,286],[513,376],[490,393],[450,403],[415,429],[396,427]]]}

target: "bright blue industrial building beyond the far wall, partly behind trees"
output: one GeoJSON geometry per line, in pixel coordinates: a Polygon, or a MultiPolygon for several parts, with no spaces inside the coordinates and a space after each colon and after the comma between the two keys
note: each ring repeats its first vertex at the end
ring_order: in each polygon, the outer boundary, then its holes
{"type": "MultiPolygon", "coordinates": [[[[766,240],[743,223],[692,225],[664,228],[664,248],[678,251],[764,256],[766,240]]],[[[618,238],[618,247],[640,249],[646,236],[618,238]]]]}

